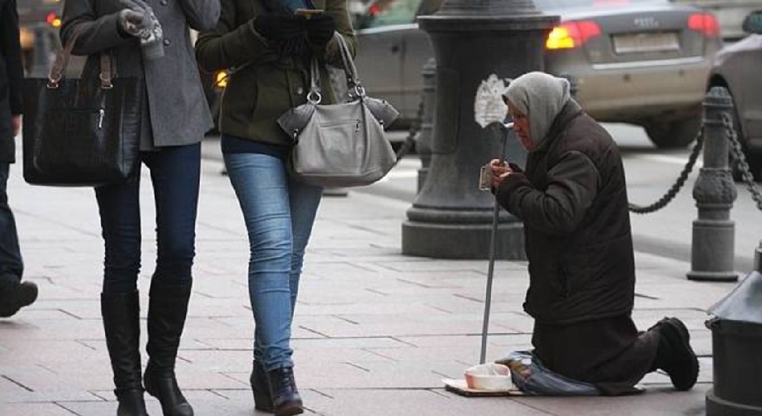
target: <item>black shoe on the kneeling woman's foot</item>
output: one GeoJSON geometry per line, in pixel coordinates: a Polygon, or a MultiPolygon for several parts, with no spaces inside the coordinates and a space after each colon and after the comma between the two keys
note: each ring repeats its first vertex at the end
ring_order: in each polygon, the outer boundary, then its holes
{"type": "Polygon", "coordinates": [[[664,318],[655,327],[659,333],[655,366],[669,374],[676,390],[693,388],[699,377],[699,360],[690,348],[690,333],[677,318],[664,318]]]}

